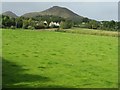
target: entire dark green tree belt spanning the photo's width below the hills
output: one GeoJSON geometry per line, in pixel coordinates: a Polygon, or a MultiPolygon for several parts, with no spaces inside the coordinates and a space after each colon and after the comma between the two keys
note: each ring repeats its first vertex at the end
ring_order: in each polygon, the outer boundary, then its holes
{"type": "MultiPolygon", "coordinates": [[[[55,25],[49,26],[50,22],[57,22],[60,24],[59,28],[68,29],[71,27],[81,27],[89,29],[102,29],[102,30],[120,30],[120,22],[116,21],[96,21],[88,18],[83,18],[82,22],[73,22],[57,16],[37,16],[34,18],[18,17],[12,18],[2,15],[1,17],[2,28],[24,28],[24,29],[44,29],[44,28],[56,28],[55,25]],[[46,21],[47,23],[44,23],[46,21]]],[[[58,27],[57,27],[58,28],[58,27]]]]}

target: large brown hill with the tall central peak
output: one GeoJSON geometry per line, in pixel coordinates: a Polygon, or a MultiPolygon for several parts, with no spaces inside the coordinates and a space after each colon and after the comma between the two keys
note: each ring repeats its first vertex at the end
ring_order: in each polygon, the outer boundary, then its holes
{"type": "Polygon", "coordinates": [[[36,17],[40,15],[53,15],[53,16],[59,16],[62,18],[67,18],[71,20],[82,20],[83,17],[79,16],[78,14],[74,13],[73,11],[65,8],[65,7],[59,7],[59,6],[53,6],[49,9],[46,9],[41,12],[31,12],[26,13],[22,15],[23,17],[36,17]]]}

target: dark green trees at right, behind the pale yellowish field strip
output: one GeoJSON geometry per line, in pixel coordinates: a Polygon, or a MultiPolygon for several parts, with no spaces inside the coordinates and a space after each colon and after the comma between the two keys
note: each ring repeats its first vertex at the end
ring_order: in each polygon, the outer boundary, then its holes
{"type": "Polygon", "coordinates": [[[116,22],[114,20],[111,21],[96,21],[96,20],[84,20],[79,27],[89,28],[89,29],[102,29],[102,30],[110,30],[110,31],[118,31],[120,30],[120,22],[116,22]]]}

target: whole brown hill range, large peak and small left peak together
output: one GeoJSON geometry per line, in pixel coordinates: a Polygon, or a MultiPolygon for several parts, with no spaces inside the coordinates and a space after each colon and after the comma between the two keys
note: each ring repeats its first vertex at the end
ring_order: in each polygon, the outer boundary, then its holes
{"type": "MultiPolygon", "coordinates": [[[[6,11],[2,13],[3,15],[10,16],[10,17],[18,17],[15,13],[12,11],[6,11]]],[[[40,17],[40,16],[57,16],[65,19],[69,19],[72,21],[79,21],[81,22],[82,19],[84,18],[83,16],[80,16],[73,11],[65,8],[65,7],[59,7],[59,6],[53,6],[51,8],[48,8],[44,11],[38,11],[38,12],[30,12],[30,13],[25,13],[22,16],[19,17],[25,17],[25,18],[35,18],[35,17],[40,17]]]]}

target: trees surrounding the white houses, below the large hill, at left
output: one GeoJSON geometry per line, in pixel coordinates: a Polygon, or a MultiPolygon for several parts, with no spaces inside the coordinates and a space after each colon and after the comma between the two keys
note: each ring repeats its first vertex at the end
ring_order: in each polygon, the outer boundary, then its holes
{"type": "MultiPolygon", "coordinates": [[[[71,20],[65,20],[57,16],[37,16],[34,18],[18,17],[12,18],[9,16],[2,15],[2,28],[24,28],[24,29],[45,29],[45,28],[56,28],[55,25],[49,26],[52,22],[60,24],[60,28],[71,28],[73,23],[71,20]],[[46,21],[46,22],[45,22],[46,21]]],[[[58,26],[57,26],[58,28],[58,26]]]]}

